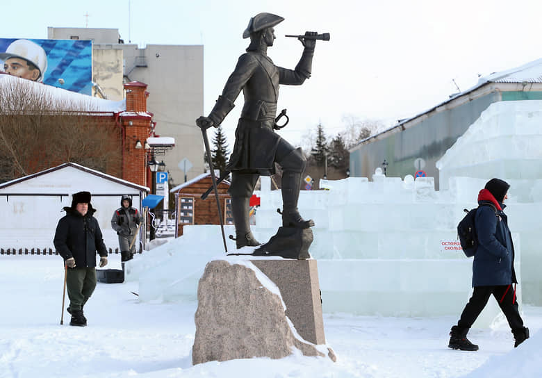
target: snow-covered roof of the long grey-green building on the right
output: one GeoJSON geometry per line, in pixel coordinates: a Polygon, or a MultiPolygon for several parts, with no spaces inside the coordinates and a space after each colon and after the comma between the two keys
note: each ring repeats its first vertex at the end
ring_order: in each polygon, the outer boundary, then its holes
{"type": "Polygon", "coordinates": [[[400,120],[397,122],[397,124],[394,124],[390,128],[381,131],[380,133],[377,133],[375,135],[371,135],[369,138],[360,140],[356,145],[354,145],[350,151],[353,149],[356,149],[359,145],[362,145],[367,140],[375,139],[383,134],[386,134],[392,130],[395,130],[397,128],[403,128],[404,125],[411,122],[412,120],[415,120],[416,118],[425,115],[429,112],[432,112],[436,108],[439,108],[443,106],[444,104],[447,104],[450,101],[453,101],[455,99],[458,99],[459,97],[462,97],[465,94],[468,94],[470,92],[473,92],[474,90],[477,90],[478,88],[481,88],[482,86],[488,84],[488,83],[542,83],[542,58],[533,60],[532,62],[529,62],[525,65],[521,65],[519,67],[507,69],[505,71],[501,72],[493,72],[493,74],[490,74],[488,76],[484,76],[478,80],[478,83],[474,85],[471,88],[468,88],[467,90],[463,90],[463,92],[458,92],[456,94],[453,94],[450,96],[449,99],[446,101],[442,101],[441,103],[433,106],[432,108],[429,108],[427,110],[422,111],[421,113],[418,113],[414,115],[413,117],[405,118],[404,120],[400,120]]]}

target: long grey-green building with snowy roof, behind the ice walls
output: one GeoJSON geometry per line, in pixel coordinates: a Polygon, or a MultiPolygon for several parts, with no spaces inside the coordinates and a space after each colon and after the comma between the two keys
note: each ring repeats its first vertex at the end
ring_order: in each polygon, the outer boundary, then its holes
{"type": "Polygon", "coordinates": [[[539,99],[542,59],[482,77],[472,88],[352,147],[350,172],[369,177],[385,164],[388,176],[419,172],[420,176],[433,176],[439,188],[436,162],[488,106],[498,101],[539,99]]]}

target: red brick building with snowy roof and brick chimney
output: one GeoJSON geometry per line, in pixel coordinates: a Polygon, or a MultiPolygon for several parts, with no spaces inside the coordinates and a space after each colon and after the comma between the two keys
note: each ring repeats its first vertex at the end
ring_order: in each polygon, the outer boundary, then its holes
{"type": "MultiPolygon", "coordinates": [[[[120,179],[136,183],[141,186],[151,186],[151,172],[147,165],[147,159],[154,157],[159,151],[163,151],[163,138],[159,138],[158,145],[151,145],[154,140],[154,128],[156,122],[153,121],[153,114],[147,111],[147,84],[139,81],[132,81],[124,84],[126,98],[121,101],[99,99],[85,94],[80,94],[56,88],[51,85],[44,85],[35,81],[21,79],[8,74],[0,74],[0,126],[7,127],[5,133],[11,133],[11,126],[17,126],[13,123],[13,117],[78,117],[85,118],[81,124],[69,124],[72,127],[85,127],[89,125],[98,125],[99,130],[108,135],[106,140],[107,148],[114,149],[108,161],[105,161],[99,168],[106,174],[117,176],[120,179]],[[14,94],[17,93],[17,94],[14,94]],[[14,97],[27,97],[28,101],[39,102],[36,106],[27,108],[25,104],[19,104],[18,99],[14,97]],[[39,113],[39,114],[38,114],[39,113]],[[10,121],[11,120],[11,121],[10,121]],[[5,121],[5,122],[3,122],[5,121]],[[12,122],[11,124],[8,121],[12,122]],[[84,125],[83,125],[84,124],[84,125]],[[106,130],[110,131],[106,133],[106,130]],[[145,146],[145,148],[144,148],[145,146]]],[[[23,101],[24,102],[24,101],[23,101]]],[[[71,122],[71,121],[69,121],[71,122]]],[[[58,124],[53,123],[55,126],[58,124]]],[[[41,127],[51,127],[49,124],[41,123],[41,127]]],[[[13,130],[14,133],[17,130],[13,130]]],[[[53,132],[53,130],[49,130],[53,132]]],[[[10,134],[11,135],[11,134],[10,134]]],[[[6,136],[6,135],[4,135],[6,136]]],[[[38,135],[36,135],[38,137],[38,135]]],[[[63,155],[58,154],[58,158],[53,160],[43,159],[39,154],[42,149],[54,149],[58,146],[43,146],[40,140],[37,140],[38,147],[21,144],[17,141],[17,134],[11,135],[15,138],[6,142],[0,142],[0,148],[3,151],[9,151],[9,145],[13,142],[20,145],[21,151],[33,149],[35,154],[29,157],[29,161],[20,161],[22,156],[13,151],[13,154],[4,156],[3,168],[14,159],[24,165],[22,172],[15,172],[11,177],[26,176],[40,172],[60,163],[65,163],[63,155]]],[[[4,138],[5,139],[5,138],[4,138]]],[[[170,146],[174,145],[174,138],[165,138],[170,146]]],[[[87,151],[85,154],[92,154],[95,151],[87,151]]],[[[28,160],[27,159],[27,160],[28,160]]],[[[88,164],[85,164],[88,165],[88,164]]],[[[8,177],[8,179],[11,179],[8,177]]],[[[6,179],[3,179],[5,181],[6,179]]]]}

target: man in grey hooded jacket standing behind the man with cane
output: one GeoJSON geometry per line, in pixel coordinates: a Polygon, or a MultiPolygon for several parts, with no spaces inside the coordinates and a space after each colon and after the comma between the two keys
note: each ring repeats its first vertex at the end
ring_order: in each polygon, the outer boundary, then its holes
{"type": "MultiPolygon", "coordinates": [[[[138,209],[132,207],[131,197],[123,195],[120,208],[117,208],[111,217],[111,227],[119,236],[120,259],[123,263],[131,260],[136,252],[136,243],[133,243],[133,240],[137,237],[141,220],[138,209]]],[[[124,264],[122,266],[124,267],[124,264]]]]}

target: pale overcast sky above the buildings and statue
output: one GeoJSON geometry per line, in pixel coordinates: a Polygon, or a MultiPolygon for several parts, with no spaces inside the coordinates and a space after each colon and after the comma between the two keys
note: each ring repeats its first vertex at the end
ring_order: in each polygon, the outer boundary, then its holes
{"type": "MultiPolygon", "coordinates": [[[[126,43],[141,47],[204,44],[205,114],[247,47],[241,35],[250,17],[285,18],[268,55],[287,68],[295,67],[302,45],[285,34],[331,33],[329,42],[317,43],[311,79],[281,87],[279,110],[290,115],[281,135],[293,143],[319,122],[329,135],[340,131],[344,115],[391,126],[445,101],[457,92],[454,81],[466,90],[478,75],[542,58],[540,0],[26,0],[12,6],[2,6],[1,38],[47,38],[47,26],[88,26],[118,28],[126,43]]],[[[242,97],[223,124],[230,145],[242,97]]]]}

